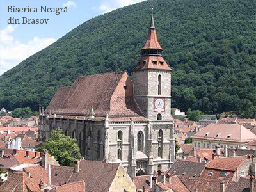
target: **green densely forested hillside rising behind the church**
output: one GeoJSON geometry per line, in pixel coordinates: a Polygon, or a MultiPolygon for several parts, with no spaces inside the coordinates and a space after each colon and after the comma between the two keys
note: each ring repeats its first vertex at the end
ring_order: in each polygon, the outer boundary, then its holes
{"type": "Polygon", "coordinates": [[[77,76],[126,70],[132,77],[151,7],[173,68],[172,106],[256,113],[256,0],[143,1],[95,17],[0,76],[0,106],[37,110],[77,76]]]}

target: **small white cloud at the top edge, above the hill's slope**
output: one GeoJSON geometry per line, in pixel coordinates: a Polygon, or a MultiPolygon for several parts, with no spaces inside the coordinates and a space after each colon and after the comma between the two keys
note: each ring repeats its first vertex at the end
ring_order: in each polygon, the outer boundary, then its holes
{"type": "Polygon", "coordinates": [[[141,1],[144,0],[102,0],[99,9],[102,10],[104,13],[108,13],[115,10],[116,8],[140,3],[141,1]]]}

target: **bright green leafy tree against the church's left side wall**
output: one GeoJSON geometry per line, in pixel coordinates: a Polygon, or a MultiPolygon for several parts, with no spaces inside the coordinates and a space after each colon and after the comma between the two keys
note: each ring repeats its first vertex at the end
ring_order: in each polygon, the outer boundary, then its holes
{"type": "Polygon", "coordinates": [[[74,166],[74,160],[81,158],[76,139],[62,134],[60,128],[51,131],[51,137],[45,140],[37,150],[47,150],[63,166],[74,166]]]}

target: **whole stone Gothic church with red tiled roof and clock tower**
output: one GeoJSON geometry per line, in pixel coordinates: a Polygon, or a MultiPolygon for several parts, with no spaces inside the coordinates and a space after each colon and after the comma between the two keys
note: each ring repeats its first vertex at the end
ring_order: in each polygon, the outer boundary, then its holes
{"type": "Polygon", "coordinates": [[[172,70],[161,55],[154,17],[132,82],[126,72],[77,77],[40,108],[40,138],[60,127],[85,159],[122,163],[131,177],[175,161],[172,70]]]}

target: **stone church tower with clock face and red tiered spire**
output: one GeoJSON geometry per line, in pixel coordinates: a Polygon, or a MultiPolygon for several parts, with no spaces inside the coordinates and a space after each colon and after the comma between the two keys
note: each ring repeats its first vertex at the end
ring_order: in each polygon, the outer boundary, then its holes
{"type": "Polygon", "coordinates": [[[154,24],[153,10],[141,60],[134,68],[134,97],[150,121],[171,119],[171,73],[162,56],[154,24]]]}

